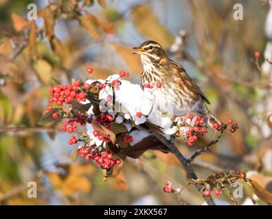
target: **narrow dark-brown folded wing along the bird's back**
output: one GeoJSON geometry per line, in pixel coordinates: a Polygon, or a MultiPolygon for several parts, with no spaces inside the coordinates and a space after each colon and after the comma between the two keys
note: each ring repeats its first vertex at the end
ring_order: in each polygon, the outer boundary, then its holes
{"type": "Polygon", "coordinates": [[[183,79],[183,81],[185,83],[187,83],[188,86],[193,88],[196,92],[198,92],[206,103],[211,104],[209,102],[209,100],[207,99],[207,97],[205,96],[205,94],[201,91],[199,86],[197,86],[197,84],[194,82],[194,80],[188,75],[188,73],[186,73],[183,66],[181,66],[180,64],[178,64],[177,62],[174,62],[174,61],[172,61],[172,64],[174,64],[176,66],[176,68],[174,68],[174,69],[179,69],[179,75],[181,75],[181,78],[183,79]]]}

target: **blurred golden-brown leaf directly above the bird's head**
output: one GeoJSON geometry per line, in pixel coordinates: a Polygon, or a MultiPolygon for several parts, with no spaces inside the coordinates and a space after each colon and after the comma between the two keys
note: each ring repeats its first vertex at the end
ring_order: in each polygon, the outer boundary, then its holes
{"type": "MultiPolygon", "coordinates": [[[[174,36],[159,23],[157,16],[146,5],[137,5],[132,11],[135,27],[150,40],[155,40],[164,48],[169,48],[174,42],[174,36]]],[[[135,45],[139,46],[139,45],[135,45]]]]}

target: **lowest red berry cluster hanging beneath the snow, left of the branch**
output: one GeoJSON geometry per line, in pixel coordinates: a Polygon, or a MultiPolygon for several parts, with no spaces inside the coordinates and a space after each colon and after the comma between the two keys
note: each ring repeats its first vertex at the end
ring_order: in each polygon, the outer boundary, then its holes
{"type": "Polygon", "coordinates": [[[93,159],[96,164],[99,164],[102,169],[108,170],[115,164],[121,164],[120,159],[113,158],[113,152],[111,150],[98,152],[96,150],[91,151],[93,146],[84,146],[78,149],[78,155],[84,157],[87,161],[93,159]]]}

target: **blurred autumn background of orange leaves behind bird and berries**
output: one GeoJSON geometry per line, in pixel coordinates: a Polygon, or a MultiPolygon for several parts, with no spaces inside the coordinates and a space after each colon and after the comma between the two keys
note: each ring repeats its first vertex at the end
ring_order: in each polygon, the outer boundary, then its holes
{"type": "MultiPolygon", "coordinates": [[[[99,166],[76,157],[60,123],[36,124],[48,104],[50,77],[84,80],[91,66],[96,79],[125,70],[140,83],[141,64],[131,47],[144,40],[159,42],[196,79],[210,110],[220,120],[234,118],[240,127],[196,159],[199,178],[240,169],[272,192],[269,10],[269,1],[258,0],[0,0],[0,203],[203,204],[193,186],[179,198],[163,192],[166,181],[173,188],[188,182],[172,155],[148,151],[126,159],[104,182],[99,166]],[[30,3],[37,6],[36,21],[27,19],[30,3]],[[242,20],[234,19],[235,3],[242,5],[242,20]],[[27,197],[29,181],[37,183],[37,198],[27,197]]],[[[177,144],[186,156],[198,147],[177,144]]],[[[252,204],[251,190],[245,194],[238,203],[252,204]]],[[[225,196],[216,199],[229,204],[225,196]]]]}

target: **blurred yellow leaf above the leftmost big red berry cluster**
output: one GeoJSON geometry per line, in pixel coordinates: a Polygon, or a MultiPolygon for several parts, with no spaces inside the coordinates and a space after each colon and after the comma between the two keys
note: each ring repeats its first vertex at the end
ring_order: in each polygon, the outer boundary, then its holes
{"type": "Polygon", "coordinates": [[[34,69],[43,83],[48,84],[52,76],[52,66],[45,60],[37,60],[34,64],[34,69]]]}

